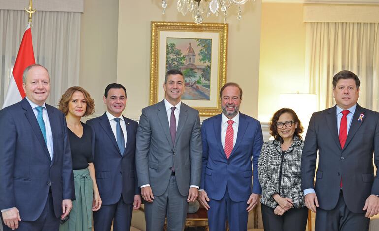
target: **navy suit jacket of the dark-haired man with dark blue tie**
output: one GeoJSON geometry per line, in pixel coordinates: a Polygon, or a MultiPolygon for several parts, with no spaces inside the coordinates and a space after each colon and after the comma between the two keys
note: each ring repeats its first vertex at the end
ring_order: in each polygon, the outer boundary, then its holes
{"type": "Polygon", "coordinates": [[[121,193],[125,203],[133,203],[140,194],[135,172],[135,135],[138,123],[124,117],[127,142],[121,155],[106,113],[87,120],[95,133],[93,145],[96,182],[105,205],[119,201],[121,193]]]}

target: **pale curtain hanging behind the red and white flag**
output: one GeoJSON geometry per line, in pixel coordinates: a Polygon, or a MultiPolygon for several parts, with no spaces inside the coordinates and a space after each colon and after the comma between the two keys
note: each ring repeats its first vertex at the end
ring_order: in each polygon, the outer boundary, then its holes
{"type": "MultiPolygon", "coordinates": [[[[32,16],[35,62],[50,72],[47,103],[57,105],[64,91],[79,84],[80,17],[78,12],[37,11],[32,16]]],[[[28,23],[22,10],[0,10],[0,108],[28,23]]]]}

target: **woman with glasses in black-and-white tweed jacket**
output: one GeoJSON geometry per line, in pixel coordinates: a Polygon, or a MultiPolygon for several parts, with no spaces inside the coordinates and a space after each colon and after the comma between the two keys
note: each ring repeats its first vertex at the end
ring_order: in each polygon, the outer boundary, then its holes
{"type": "Polygon", "coordinates": [[[306,228],[308,209],[300,182],[302,132],[300,120],[292,109],[282,108],[271,119],[270,133],[275,140],[263,144],[258,161],[265,231],[306,228]]]}

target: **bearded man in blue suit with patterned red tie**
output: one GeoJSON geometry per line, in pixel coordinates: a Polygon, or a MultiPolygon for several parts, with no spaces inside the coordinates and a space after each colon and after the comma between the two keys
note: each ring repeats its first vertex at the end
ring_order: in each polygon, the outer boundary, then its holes
{"type": "Polygon", "coordinates": [[[248,212],[262,191],[257,172],[262,129],[259,121],[239,112],[242,89],[238,84],[226,83],[220,98],[222,113],[204,120],[201,126],[199,201],[208,210],[210,231],[225,231],[226,220],[231,231],[246,231],[248,212]]]}

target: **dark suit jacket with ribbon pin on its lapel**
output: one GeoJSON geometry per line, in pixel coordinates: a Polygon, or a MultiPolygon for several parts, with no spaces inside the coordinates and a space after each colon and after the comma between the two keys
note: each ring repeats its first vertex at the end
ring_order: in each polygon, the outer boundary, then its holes
{"type": "Polygon", "coordinates": [[[312,115],[301,160],[301,189],[315,188],[320,208],[333,209],[339,198],[342,177],[348,209],[363,213],[370,194],[379,195],[379,113],[357,104],[347,140],[341,149],[337,133],[336,106],[312,115]],[[359,115],[363,114],[363,119],[359,115]],[[317,151],[319,163],[316,173],[317,151]]]}

